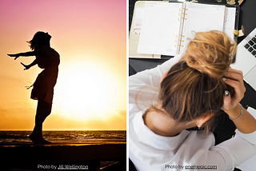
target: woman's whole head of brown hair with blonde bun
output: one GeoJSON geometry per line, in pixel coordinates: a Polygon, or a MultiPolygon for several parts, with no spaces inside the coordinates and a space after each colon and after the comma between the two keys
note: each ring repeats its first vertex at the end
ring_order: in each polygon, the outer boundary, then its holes
{"type": "MultiPolygon", "coordinates": [[[[225,90],[232,92],[222,77],[234,58],[235,47],[235,42],[230,42],[220,31],[195,34],[186,54],[161,82],[160,111],[177,122],[193,121],[209,112],[214,116],[219,113],[225,90]]],[[[153,106],[153,109],[159,110],[159,107],[153,106]]],[[[206,134],[213,129],[212,121],[214,117],[202,125],[206,134]]]]}

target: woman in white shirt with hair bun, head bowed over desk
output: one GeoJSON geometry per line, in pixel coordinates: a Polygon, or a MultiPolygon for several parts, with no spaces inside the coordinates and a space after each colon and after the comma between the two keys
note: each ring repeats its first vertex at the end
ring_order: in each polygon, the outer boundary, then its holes
{"type": "Polygon", "coordinates": [[[256,120],[239,104],[242,72],[230,68],[235,47],[222,32],[197,33],[186,54],[130,77],[129,157],[136,169],[233,170],[256,154],[256,120]],[[214,145],[221,109],[237,131],[214,145]]]}

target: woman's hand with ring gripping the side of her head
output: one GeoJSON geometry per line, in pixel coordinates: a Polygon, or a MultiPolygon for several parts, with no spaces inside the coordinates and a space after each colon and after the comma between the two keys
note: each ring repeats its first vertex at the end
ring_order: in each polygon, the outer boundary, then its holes
{"type": "Polygon", "coordinates": [[[243,75],[241,70],[234,70],[230,68],[225,76],[222,78],[223,81],[234,88],[234,96],[231,97],[230,93],[224,95],[222,110],[228,111],[234,109],[238,103],[244,97],[246,87],[243,84],[243,75]]]}

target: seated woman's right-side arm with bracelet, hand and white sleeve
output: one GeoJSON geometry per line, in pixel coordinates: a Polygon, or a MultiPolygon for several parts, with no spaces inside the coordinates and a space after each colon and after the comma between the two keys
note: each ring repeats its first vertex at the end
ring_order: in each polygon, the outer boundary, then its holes
{"type": "Polygon", "coordinates": [[[256,154],[256,120],[239,104],[246,92],[242,71],[230,68],[223,81],[234,87],[232,97],[230,93],[224,96],[222,109],[234,120],[237,131],[233,138],[211,147],[207,159],[218,163],[222,170],[233,170],[256,154]]]}

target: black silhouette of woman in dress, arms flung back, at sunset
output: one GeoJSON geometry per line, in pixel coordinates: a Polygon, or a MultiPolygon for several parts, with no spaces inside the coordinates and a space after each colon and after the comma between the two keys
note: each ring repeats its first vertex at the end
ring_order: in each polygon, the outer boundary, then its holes
{"type": "Polygon", "coordinates": [[[24,70],[29,70],[31,66],[35,66],[36,64],[44,69],[38,74],[31,92],[31,98],[38,100],[34,130],[30,135],[30,140],[33,141],[34,144],[51,143],[42,137],[42,123],[51,112],[54,85],[58,78],[60,58],[58,52],[50,47],[50,38],[51,36],[48,33],[38,31],[34,34],[32,40],[28,42],[32,51],[19,54],[8,54],[10,57],[15,57],[14,60],[20,56],[35,56],[36,58],[34,62],[30,65],[26,66],[22,63],[22,66],[25,67],[24,70]]]}

